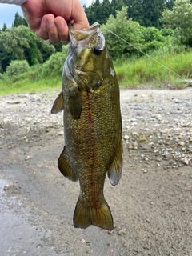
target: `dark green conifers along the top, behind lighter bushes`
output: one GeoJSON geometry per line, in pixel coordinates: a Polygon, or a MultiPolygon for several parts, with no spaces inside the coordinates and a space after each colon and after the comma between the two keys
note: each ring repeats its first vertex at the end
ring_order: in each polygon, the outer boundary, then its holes
{"type": "MultiPolygon", "coordinates": [[[[162,28],[162,12],[166,8],[171,10],[174,0],[95,0],[88,7],[83,6],[87,18],[92,25],[94,22],[105,24],[110,14],[115,15],[117,10],[121,10],[122,6],[128,7],[127,18],[132,18],[134,22],[138,22],[141,26],[154,26],[162,28]]],[[[118,21],[121,22],[121,19],[118,21]]],[[[122,23],[122,25],[124,25],[122,23]]]]}

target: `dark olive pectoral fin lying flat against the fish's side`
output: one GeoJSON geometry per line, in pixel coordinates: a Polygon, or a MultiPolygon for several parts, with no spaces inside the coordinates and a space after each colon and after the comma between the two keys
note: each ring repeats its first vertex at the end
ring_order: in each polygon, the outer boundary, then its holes
{"type": "Polygon", "coordinates": [[[78,120],[82,114],[82,95],[77,87],[70,90],[69,93],[70,114],[75,120],[78,120]]]}

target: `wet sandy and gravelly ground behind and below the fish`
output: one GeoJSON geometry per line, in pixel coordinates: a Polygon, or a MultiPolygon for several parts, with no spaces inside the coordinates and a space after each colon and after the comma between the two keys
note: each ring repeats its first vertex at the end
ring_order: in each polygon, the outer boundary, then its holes
{"type": "MultiPolygon", "coordinates": [[[[177,100],[192,99],[192,89],[122,90],[123,174],[118,186],[111,186],[106,178],[104,191],[114,217],[113,234],[94,226],[74,229],[79,185],[58,171],[63,127],[62,114],[50,115],[54,94],[1,98],[0,255],[192,256],[192,153],[182,147],[183,158],[174,158],[176,142],[163,142],[163,138],[183,134],[189,137],[190,149],[192,106],[182,110],[189,124],[182,124],[179,130],[174,124],[169,126],[181,118],[179,112],[174,118],[167,115],[168,122],[154,122],[153,115],[149,118],[144,110],[148,107],[151,113],[154,106],[158,110],[163,99],[170,113],[177,100]],[[135,120],[127,125],[134,118],[130,110],[135,106],[151,122],[140,122],[140,118],[135,125],[135,120]],[[161,138],[154,136],[159,129],[163,130],[161,138]],[[134,136],[137,138],[131,140],[134,136]],[[151,150],[152,142],[155,148],[151,150]],[[163,143],[174,149],[168,160],[168,154],[157,153],[163,143]]],[[[161,111],[163,117],[165,111],[161,111]]]]}

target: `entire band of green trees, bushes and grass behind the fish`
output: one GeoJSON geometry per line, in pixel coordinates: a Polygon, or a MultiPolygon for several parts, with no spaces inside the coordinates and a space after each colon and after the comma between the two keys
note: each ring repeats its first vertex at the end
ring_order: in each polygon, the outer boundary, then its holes
{"type": "MultiPolygon", "coordinates": [[[[192,77],[190,0],[96,0],[84,8],[90,24],[102,24],[121,86],[183,86],[170,70],[183,78],[192,77]]],[[[67,48],[37,38],[15,14],[13,26],[6,28],[4,24],[0,30],[0,94],[61,87],[67,48]]]]}

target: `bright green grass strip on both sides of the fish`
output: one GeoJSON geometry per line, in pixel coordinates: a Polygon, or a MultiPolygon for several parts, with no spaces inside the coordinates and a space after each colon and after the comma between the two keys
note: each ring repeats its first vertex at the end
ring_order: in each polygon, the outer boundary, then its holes
{"type": "MultiPolygon", "coordinates": [[[[118,81],[122,88],[136,88],[137,86],[149,86],[152,88],[183,88],[187,82],[182,78],[192,78],[192,51],[181,54],[152,54],[154,60],[143,56],[142,58],[129,58],[117,60],[114,68],[118,75],[118,81]],[[162,63],[162,65],[158,64],[162,63]],[[173,70],[178,75],[167,70],[164,66],[173,70]]],[[[6,75],[0,76],[0,95],[38,92],[62,87],[61,70],[46,77],[42,75],[43,66],[32,66],[30,71],[12,78],[6,75]]]]}

